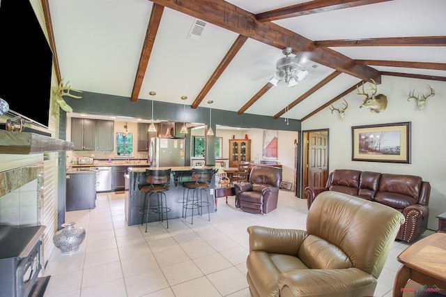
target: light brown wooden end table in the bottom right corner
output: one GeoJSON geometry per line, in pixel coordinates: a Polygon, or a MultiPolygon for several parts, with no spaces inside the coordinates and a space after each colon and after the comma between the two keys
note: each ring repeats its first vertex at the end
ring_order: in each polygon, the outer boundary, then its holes
{"type": "Polygon", "coordinates": [[[426,285],[426,290],[431,294],[437,289],[441,290],[441,294],[445,294],[446,233],[438,232],[413,243],[399,254],[398,261],[403,265],[395,277],[394,297],[403,296],[404,291],[413,290],[405,288],[408,280],[413,280],[422,286],[426,285]]]}

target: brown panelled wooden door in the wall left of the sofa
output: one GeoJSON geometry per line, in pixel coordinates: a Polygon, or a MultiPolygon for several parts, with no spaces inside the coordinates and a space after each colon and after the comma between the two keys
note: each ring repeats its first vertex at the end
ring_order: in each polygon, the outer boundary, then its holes
{"type": "Polygon", "coordinates": [[[327,134],[308,135],[308,186],[324,187],[327,181],[327,134]]]}

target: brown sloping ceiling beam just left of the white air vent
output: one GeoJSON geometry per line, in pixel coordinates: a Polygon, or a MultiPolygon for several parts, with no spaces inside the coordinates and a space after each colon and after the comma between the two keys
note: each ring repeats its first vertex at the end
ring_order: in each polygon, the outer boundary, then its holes
{"type": "Polygon", "coordinates": [[[144,38],[144,45],[142,46],[141,56],[139,56],[139,63],[136,77],[134,77],[134,84],[132,89],[132,102],[138,101],[139,92],[141,91],[142,82],[148,66],[148,60],[151,58],[153,43],[160,27],[162,12],[164,6],[153,3],[151,18],[148,21],[146,38],[144,38]]]}

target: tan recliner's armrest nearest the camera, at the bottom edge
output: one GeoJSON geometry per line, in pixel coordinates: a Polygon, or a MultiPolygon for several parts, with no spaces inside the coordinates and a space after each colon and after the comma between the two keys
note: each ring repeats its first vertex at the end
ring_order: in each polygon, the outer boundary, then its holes
{"type": "Polygon", "coordinates": [[[316,291],[318,296],[332,296],[334,292],[342,291],[356,292],[356,296],[362,296],[362,289],[376,280],[361,269],[346,268],[288,271],[280,273],[278,282],[281,293],[282,290],[288,293],[284,294],[286,296],[315,296],[316,291]]]}

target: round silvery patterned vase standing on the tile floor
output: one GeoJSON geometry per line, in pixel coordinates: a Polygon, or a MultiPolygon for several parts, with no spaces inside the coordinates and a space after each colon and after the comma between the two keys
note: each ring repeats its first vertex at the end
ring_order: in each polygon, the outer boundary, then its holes
{"type": "Polygon", "coordinates": [[[75,227],[75,224],[76,222],[66,222],[62,224],[63,229],[54,234],[53,243],[64,254],[79,250],[79,245],[85,239],[85,229],[75,227]]]}

